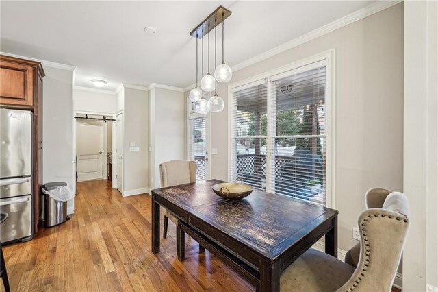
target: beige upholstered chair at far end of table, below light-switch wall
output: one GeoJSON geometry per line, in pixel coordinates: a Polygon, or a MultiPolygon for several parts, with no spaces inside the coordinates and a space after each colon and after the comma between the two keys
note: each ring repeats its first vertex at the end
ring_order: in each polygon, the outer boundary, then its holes
{"type": "MultiPolygon", "coordinates": [[[[196,182],[196,168],[197,165],[194,161],[171,160],[162,163],[159,165],[159,177],[162,182],[162,188],[196,182]]],[[[164,238],[167,236],[169,219],[175,225],[178,225],[178,218],[169,210],[164,209],[164,238]]]]}

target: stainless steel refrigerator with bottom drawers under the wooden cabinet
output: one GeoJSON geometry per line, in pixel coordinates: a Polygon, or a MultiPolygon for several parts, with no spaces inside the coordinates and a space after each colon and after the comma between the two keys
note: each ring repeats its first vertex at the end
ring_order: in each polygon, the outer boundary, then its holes
{"type": "Polygon", "coordinates": [[[32,237],[32,161],[32,112],[1,108],[1,243],[32,237]]]}

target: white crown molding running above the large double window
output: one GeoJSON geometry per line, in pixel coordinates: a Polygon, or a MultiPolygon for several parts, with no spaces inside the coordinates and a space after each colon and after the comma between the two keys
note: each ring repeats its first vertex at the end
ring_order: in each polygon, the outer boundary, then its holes
{"type": "Polygon", "coordinates": [[[302,36],[299,36],[298,38],[294,38],[293,40],[289,40],[288,42],[285,42],[283,45],[279,45],[278,47],[274,47],[273,49],[270,49],[264,53],[261,53],[253,58],[250,58],[244,62],[241,62],[239,64],[236,64],[235,66],[232,66],[233,71],[237,71],[240,69],[243,69],[247,66],[250,66],[252,64],[255,64],[257,62],[260,62],[262,60],[266,60],[272,56],[275,56],[279,53],[283,53],[283,51],[287,51],[288,49],[292,49],[294,47],[298,47],[299,45],[302,45],[305,42],[309,42],[309,40],[313,40],[315,38],[319,38],[320,36],[323,36],[324,34],[328,34],[329,32],[333,32],[336,29],[339,29],[341,27],[344,27],[346,25],[349,25],[351,23],[354,23],[355,21],[359,21],[361,19],[364,19],[367,16],[370,16],[372,14],[375,14],[377,12],[381,12],[382,10],[385,10],[387,8],[390,8],[391,6],[394,6],[402,1],[377,1],[375,3],[372,3],[371,5],[368,5],[365,8],[362,8],[360,10],[357,10],[356,12],[352,12],[351,14],[348,14],[341,19],[337,19],[336,21],[333,21],[332,23],[329,23],[327,25],[324,25],[318,29],[315,29],[307,34],[304,34],[302,36]]]}

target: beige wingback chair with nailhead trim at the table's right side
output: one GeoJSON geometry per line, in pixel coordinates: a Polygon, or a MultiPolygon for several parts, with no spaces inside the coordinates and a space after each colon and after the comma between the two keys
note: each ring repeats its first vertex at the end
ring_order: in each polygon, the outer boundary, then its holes
{"type": "Polygon", "coordinates": [[[391,291],[409,226],[404,194],[372,188],[357,223],[361,241],[341,260],[309,250],[281,274],[280,291],[391,291]]]}

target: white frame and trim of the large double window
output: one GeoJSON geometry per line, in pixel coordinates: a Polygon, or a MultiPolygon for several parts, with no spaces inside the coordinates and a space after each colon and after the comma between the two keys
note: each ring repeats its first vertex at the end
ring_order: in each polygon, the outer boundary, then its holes
{"type": "MultiPolygon", "coordinates": [[[[326,106],[326,207],[335,208],[335,49],[330,49],[322,53],[318,53],[309,58],[281,66],[279,68],[270,70],[266,73],[261,73],[253,77],[246,78],[240,82],[235,82],[229,84],[228,86],[228,179],[231,180],[231,143],[233,143],[233,133],[232,133],[232,104],[233,104],[233,93],[254,86],[259,82],[267,82],[267,115],[268,121],[270,121],[270,115],[272,114],[272,82],[271,79],[278,80],[281,77],[287,77],[290,75],[295,75],[311,69],[318,68],[319,66],[326,66],[326,96],[325,96],[325,106],[326,106]]],[[[274,125],[268,125],[268,137],[272,137],[272,127],[274,125]]],[[[272,154],[266,154],[272,155],[272,154]]],[[[268,167],[268,165],[266,166],[268,167]]],[[[270,169],[267,169],[268,173],[270,169]]],[[[266,176],[266,191],[273,193],[272,183],[266,176]]]]}

